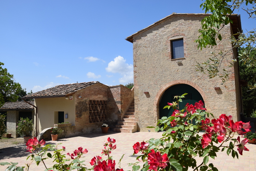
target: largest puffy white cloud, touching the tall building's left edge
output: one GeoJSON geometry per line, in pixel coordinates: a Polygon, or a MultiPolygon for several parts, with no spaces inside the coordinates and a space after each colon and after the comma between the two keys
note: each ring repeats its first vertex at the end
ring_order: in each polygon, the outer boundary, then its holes
{"type": "Polygon", "coordinates": [[[109,73],[119,73],[122,77],[119,82],[122,84],[133,82],[133,65],[127,64],[122,56],[117,56],[114,61],[108,63],[106,71],[109,73]]]}

